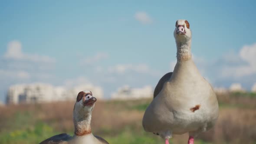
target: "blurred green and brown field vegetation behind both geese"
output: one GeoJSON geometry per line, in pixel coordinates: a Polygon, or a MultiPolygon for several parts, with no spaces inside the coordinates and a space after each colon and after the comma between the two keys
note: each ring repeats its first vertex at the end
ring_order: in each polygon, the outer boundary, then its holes
{"type": "MultiPolygon", "coordinates": [[[[256,93],[217,95],[220,116],[196,144],[256,144],[256,93]]],[[[141,120],[151,99],[97,101],[92,132],[110,144],[164,144],[143,130],[141,120]]],[[[55,134],[73,135],[74,101],[0,107],[0,144],[38,144],[55,134]]],[[[174,135],[170,144],[186,144],[187,134],[174,135]]]]}

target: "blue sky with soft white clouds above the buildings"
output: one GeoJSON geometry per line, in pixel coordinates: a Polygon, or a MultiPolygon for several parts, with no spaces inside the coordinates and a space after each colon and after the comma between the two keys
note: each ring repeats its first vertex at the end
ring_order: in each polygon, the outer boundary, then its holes
{"type": "Polygon", "coordinates": [[[239,82],[249,90],[256,82],[255,6],[253,0],[2,0],[0,100],[16,83],[79,80],[101,86],[106,97],[123,85],[154,87],[176,62],[178,19],[190,23],[202,75],[215,87],[239,82]]]}

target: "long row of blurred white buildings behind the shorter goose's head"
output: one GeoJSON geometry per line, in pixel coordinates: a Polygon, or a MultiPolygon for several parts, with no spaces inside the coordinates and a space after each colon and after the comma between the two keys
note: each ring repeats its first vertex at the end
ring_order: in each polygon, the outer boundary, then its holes
{"type": "Polygon", "coordinates": [[[7,92],[7,104],[75,101],[77,94],[83,90],[92,91],[93,95],[98,99],[103,98],[102,88],[91,84],[78,85],[74,88],[66,89],[64,87],[54,87],[50,84],[35,83],[10,86],[7,92]]]}

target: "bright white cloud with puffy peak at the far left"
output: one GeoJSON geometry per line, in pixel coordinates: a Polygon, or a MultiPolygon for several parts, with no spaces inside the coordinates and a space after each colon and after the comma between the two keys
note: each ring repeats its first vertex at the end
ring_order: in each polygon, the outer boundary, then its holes
{"type": "Polygon", "coordinates": [[[14,60],[27,60],[31,62],[55,62],[55,59],[50,58],[49,56],[23,53],[22,45],[19,41],[11,41],[10,43],[8,43],[7,51],[4,54],[4,58],[14,60]]]}

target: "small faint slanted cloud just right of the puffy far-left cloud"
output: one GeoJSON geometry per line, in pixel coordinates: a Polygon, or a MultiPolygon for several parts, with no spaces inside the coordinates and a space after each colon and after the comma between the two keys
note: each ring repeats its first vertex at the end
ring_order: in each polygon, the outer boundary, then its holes
{"type": "Polygon", "coordinates": [[[101,53],[97,53],[95,56],[86,56],[85,59],[82,59],[81,64],[90,65],[102,59],[107,59],[107,58],[108,58],[108,54],[101,52],[101,53]]]}

